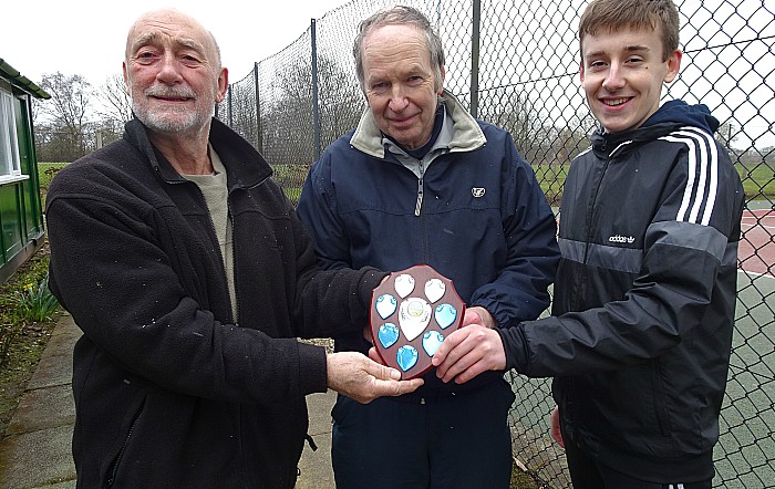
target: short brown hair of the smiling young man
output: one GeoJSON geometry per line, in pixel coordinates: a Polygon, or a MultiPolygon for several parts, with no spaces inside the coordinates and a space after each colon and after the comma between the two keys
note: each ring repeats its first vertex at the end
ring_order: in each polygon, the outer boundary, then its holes
{"type": "Polygon", "coordinates": [[[600,31],[661,28],[662,61],[678,50],[679,13],[671,0],[592,0],[579,21],[579,48],[583,62],[583,37],[600,31]]]}

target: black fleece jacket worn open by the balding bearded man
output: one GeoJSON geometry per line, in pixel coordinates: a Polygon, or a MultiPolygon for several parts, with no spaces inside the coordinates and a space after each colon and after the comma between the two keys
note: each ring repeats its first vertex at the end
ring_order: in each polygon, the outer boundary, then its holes
{"type": "Polygon", "coordinates": [[[202,193],[138,121],[51,184],[50,284],[84,333],[79,487],[293,487],[304,395],[327,388],[324,350],[294,337],[362,321],[384,277],[317,269],[264,158],[217,119],[209,142],[227,168],[238,319],[202,193]]]}

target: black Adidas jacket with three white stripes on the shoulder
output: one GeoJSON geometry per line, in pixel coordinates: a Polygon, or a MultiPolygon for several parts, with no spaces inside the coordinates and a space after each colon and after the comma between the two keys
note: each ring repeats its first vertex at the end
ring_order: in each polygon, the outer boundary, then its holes
{"type": "Polygon", "coordinates": [[[650,481],[713,477],[743,188],[704,105],[596,133],[565,184],[552,316],[503,332],[554,376],[565,443],[650,481]]]}

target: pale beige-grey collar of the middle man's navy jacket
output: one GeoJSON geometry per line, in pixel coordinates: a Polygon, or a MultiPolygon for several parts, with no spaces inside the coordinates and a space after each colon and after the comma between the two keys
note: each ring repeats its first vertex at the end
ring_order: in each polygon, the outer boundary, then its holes
{"type": "MultiPolygon", "coordinates": [[[[442,131],[452,132],[452,137],[447,145],[450,152],[469,152],[483,146],[487,138],[476,119],[446,90],[442,92],[441,97],[446,106],[447,115],[453,122],[451,129],[445,127],[442,131]]],[[[376,126],[371,110],[366,107],[361,115],[361,121],[358,123],[355,132],[350,138],[350,144],[366,155],[384,159],[385,145],[392,144],[392,142],[382,136],[382,132],[376,126]]]]}

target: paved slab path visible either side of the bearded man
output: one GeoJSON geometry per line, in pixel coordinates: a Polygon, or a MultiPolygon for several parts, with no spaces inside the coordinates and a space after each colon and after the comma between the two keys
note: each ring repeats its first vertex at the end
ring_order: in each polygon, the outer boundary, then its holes
{"type": "MultiPolygon", "coordinates": [[[[71,489],[75,466],[71,452],[75,405],[71,389],[73,345],[81,336],[64,314],[49,341],[19,407],[0,440],[0,489],[71,489]]],[[[307,397],[310,435],[318,450],[304,445],[299,469],[300,489],[333,488],[331,470],[331,407],[335,393],[307,397]]]]}

